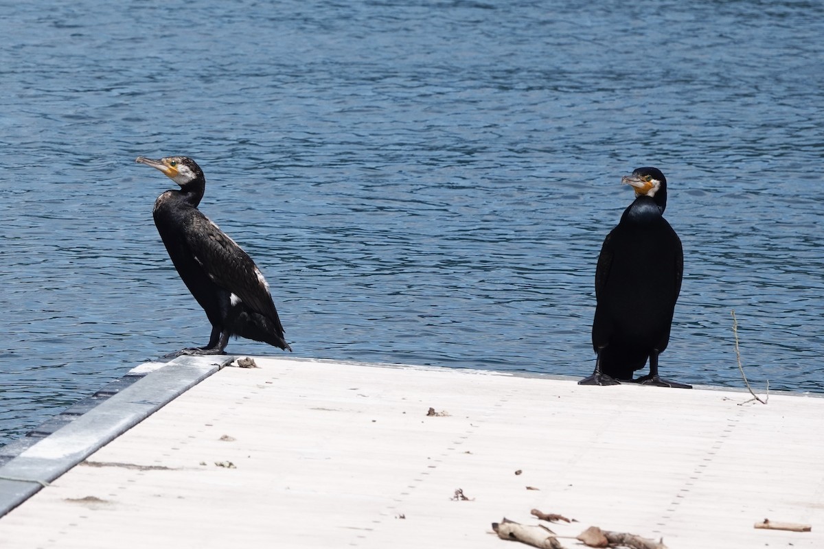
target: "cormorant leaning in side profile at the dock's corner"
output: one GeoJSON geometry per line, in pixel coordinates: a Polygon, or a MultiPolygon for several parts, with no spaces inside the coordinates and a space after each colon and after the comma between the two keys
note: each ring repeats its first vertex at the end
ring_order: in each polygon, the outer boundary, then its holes
{"type": "Polygon", "coordinates": [[[283,339],[283,325],[260,269],[234,240],[198,210],[206,188],[199,165],[186,156],[160,160],[138,156],[136,161],[162,171],[180,185],[180,190],[168,190],[157,197],[155,226],[171,263],[212,323],[206,347],[184,349],[178,354],[225,354],[229,336],[292,351],[283,339]]]}

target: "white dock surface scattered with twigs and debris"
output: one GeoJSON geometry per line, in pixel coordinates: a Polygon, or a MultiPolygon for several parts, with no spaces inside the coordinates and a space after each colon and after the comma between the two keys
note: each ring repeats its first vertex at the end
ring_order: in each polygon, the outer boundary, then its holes
{"type": "Polygon", "coordinates": [[[561,535],[824,547],[822,398],[255,360],[12,510],[0,547],[514,549],[490,525],[531,509],[578,520],[561,535]],[[765,518],[812,532],[753,528],[765,518]]]}

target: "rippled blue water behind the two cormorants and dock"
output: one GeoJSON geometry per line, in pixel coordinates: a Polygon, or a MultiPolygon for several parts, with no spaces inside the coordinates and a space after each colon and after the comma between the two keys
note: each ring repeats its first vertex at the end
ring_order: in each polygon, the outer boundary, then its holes
{"type": "Polygon", "coordinates": [[[2,12],[0,444],[208,339],[138,155],[199,162],[294,356],[576,376],[620,176],[657,166],[686,254],[663,371],[741,386],[735,309],[752,384],[824,392],[821,2],[2,12]]]}

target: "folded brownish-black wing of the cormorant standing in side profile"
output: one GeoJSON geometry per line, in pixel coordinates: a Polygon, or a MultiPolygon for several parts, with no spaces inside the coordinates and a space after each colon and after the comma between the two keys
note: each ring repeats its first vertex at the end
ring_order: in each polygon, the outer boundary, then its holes
{"type": "Polygon", "coordinates": [[[208,217],[197,212],[186,231],[186,243],[215,284],[239,297],[250,309],[276,321],[283,329],[260,269],[234,240],[208,217]]]}

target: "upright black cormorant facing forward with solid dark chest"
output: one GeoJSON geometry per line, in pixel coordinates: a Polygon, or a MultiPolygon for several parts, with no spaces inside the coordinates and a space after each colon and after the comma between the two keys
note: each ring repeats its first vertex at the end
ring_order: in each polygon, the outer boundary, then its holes
{"type": "Polygon", "coordinates": [[[635,200],[606,236],[595,271],[597,305],[592,321],[595,371],[578,382],[614,385],[634,381],[691,388],[658,376],[658,355],[669,342],[672,313],[684,272],[681,240],[663,217],[667,179],[656,168],[625,175],[635,200]],[[632,379],[649,359],[649,374],[632,379]],[[620,380],[620,381],[619,381],[620,380]]]}

